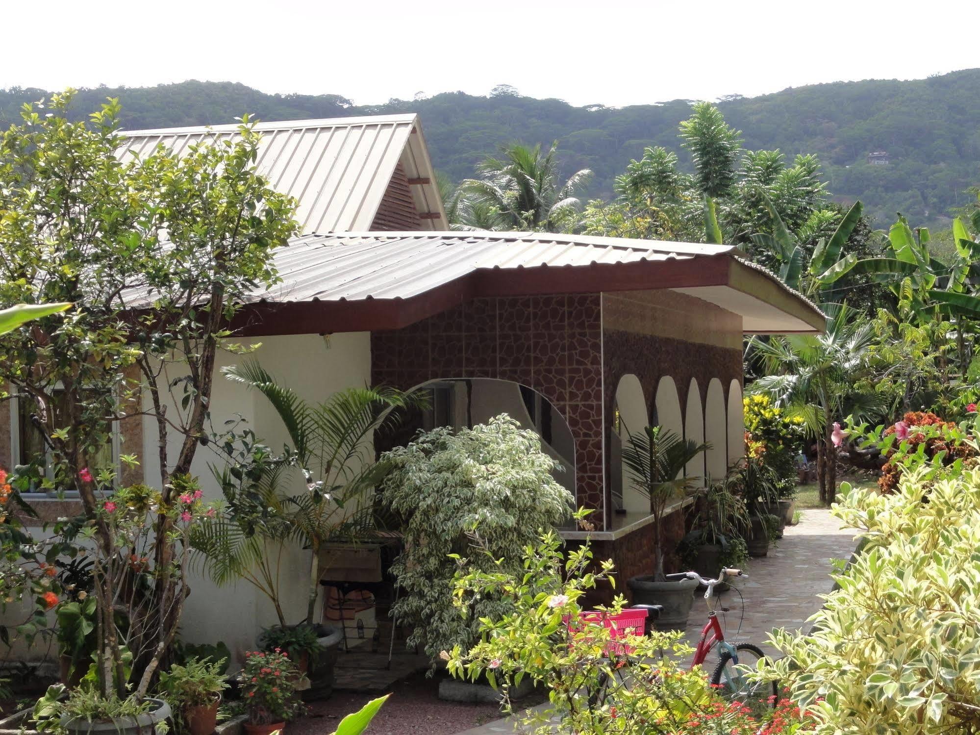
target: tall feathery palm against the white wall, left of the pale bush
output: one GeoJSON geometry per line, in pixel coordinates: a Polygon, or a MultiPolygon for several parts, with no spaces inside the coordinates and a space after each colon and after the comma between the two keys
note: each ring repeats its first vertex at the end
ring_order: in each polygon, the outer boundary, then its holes
{"type": "Polygon", "coordinates": [[[420,401],[394,388],[365,387],[338,391],[321,404],[311,404],[256,362],[222,371],[269,399],[293,443],[287,454],[303,472],[307,492],[284,498],[283,512],[311,552],[306,620],[313,622],[324,544],[338,537],[359,537],[372,525],[372,498],[362,501],[389,470],[374,461],[374,432],[396,423],[397,409],[420,401]]]}

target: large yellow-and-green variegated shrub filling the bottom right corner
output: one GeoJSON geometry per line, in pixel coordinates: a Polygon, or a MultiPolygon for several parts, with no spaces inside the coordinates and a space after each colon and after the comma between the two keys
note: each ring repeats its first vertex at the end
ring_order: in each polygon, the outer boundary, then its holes
{"type": "Polygon", "coordinates": [[[865,539],[861,553],[834,574],[808,635],[771,636],[785,658],[762,673],[789,686],[816,733],[980,728],[980,469],[927,473],[910,469],[890,495],[842,484],[832,513],[865,539]]]}

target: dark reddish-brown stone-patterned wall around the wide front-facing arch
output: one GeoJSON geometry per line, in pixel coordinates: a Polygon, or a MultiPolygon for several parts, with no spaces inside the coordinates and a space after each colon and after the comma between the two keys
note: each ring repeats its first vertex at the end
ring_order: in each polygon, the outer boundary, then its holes
{"type": "Polygon", "coordinates": [[[577,502],[603,527],[602,297],[481,298],[371,334],[371,381],[408,389],[488,377],[534,388],[575,440],[577,502]]]}

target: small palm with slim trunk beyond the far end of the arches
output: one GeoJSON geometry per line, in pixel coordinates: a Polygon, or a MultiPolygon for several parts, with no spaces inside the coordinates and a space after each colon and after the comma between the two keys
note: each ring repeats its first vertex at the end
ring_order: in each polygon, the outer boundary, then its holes
{"type": "Polygon", "coordinates": [[[837,483],[836,448],[831,436],[833,417],[843,416],[852,403],[856,416],[873,406],[861,406],[863,397],[853,391],[854,375],[864,363],[875,333],[867,319],[846,304],[827,304],[827,329],[823,334],[753,337],[746,354],[765,374],[749,388],[765,393],[806,420],[816,442],[816,473],[820,501],[834,502],[837,483]]]}

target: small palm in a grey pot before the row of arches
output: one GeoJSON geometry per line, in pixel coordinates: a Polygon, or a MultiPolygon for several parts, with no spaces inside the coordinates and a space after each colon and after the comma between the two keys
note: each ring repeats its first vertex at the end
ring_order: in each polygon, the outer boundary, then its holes
{"type": "Polygon", "coordinates": [[[650,499],[654,516],[654,581],[666,581],[663,573],[663,512],[667,502],[688,490],[692,478],[684,474],[689,462],[711,444],[682,439],[662,426],[645,426],[635,434],[626,430],[628,439],[622,447],[622,464],[637,488],[650,499]]]}

